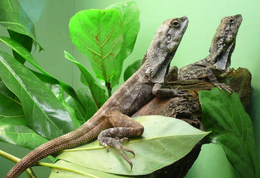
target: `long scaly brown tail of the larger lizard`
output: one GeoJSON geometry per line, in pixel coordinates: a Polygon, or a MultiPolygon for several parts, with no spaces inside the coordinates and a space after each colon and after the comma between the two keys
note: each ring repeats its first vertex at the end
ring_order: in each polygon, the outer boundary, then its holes
{"type": "Polygon", "coordinates": [[[26,169],[31,167],[35,162],[52,155],[58,151],[75,147],[92,140],[99,134],[99,132],[91,132],[92,128],[88,127],[88,123],[85,123],[80,128],[72,131],[68,134],[61,135],[54,138],[39,147],[35,148],[23,159],[21,159],[5,176],[5,178],[17,178],[26,169]],[[89,133],[90,132],[90,133],[89,133]]]}

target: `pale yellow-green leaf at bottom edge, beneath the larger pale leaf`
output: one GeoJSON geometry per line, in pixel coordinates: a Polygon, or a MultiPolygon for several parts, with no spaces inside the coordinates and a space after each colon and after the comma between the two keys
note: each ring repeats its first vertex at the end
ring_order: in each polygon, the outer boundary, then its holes
{"type": "Polygon", "coordinates": [[[125,176],[88,169],[63,160],[57,161],[54,166],[61,166],[66,170],[52,168],[49,178],[126,178],[125,176]]]}

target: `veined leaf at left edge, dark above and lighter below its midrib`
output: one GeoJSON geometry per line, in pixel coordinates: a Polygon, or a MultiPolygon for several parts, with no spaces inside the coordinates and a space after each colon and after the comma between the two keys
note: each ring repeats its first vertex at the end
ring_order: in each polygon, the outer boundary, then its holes
{"type": "Polygon", "coordinates": [[[0,82],[0,141],[34,149],[48,141],[28,127],[18,98],[0,82]]]}

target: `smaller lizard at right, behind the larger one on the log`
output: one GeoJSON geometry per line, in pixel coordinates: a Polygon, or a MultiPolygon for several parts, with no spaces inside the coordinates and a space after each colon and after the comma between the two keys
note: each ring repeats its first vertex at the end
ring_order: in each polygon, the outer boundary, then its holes
{"type": "Polygon", "coordinates": [[[217,78],[224,77],[233,70],[228,71],[228,67],[231,63],[230,58],[235,48],[236,36],[242,19],[240,14],[222,18],[212,39],[209,55],[203,60],[180,68],[178,80],[208,78],[215,87],[220,90],[224,89],[231,94],[232,89],[225,84],[218,83],[217,78]]]}

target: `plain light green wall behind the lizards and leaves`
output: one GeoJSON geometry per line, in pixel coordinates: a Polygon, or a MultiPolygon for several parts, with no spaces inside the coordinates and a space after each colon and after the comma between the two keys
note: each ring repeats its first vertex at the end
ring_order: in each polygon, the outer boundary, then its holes
{"type": "MultiPolygon", "coordinates": [[[[91,69],[86,57],[72,45],[68,30],[69,19],[83,9],[105,8],[119,0],[18,0],[36,26],[38,41],[45,48],[33,52],[40,65],[61,81],[79,89],[78,69],[64,58],[63,50],[72,53],[91,69]]],[[[142,59],[158,26],[168,18],[188,16],[189,26],[171,65],[183,67],[208,55],[211,39],[222,17],[242,14],[243,22],[237,35],[231,67],[248,68],[252,73],[253,96],[248,107],[254,125],[254,133],[260,156],[260,20],[259,0],[136,0],[140,5],[141,29],[133,53],[125,60],[123,70],[133,61],[142,59]]],[[[0,36],[7,36],[0,28],[0,36]]],[[[8,50],[0,44],[1,49],[8,50]]],[[[10,51],[10,50],[8,50],[10,51]]],[[[121,83],[123,80],[121,79],[121,83]]],[[[118,88],[118,87],[117,87],[118,88]]],[[[115,88],[115,89],[117,89],[115,88]]],[[[113,89],[113,91],[115,90],[113,89]]],[[[22,158],[29,152],[6,143],[0,149],[22,158]]],[[[88,158],[86,158],[88,159],[88,158]]],[[[45,159],[44,161],[49,161],[45,159]]],[[[13,163],[0,157],[0,177],[13,163]]],[[[38,178],[46,178],[48,168],[36,168],[38,178]]],[[[26,178],[23,174],[21,178],[26,178]]],[[[218,145],[204,145],[201,154],[186,178],[238,178],[237,172],[226,159],[218,145]]]]}

